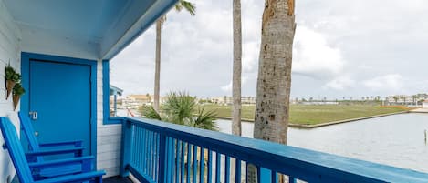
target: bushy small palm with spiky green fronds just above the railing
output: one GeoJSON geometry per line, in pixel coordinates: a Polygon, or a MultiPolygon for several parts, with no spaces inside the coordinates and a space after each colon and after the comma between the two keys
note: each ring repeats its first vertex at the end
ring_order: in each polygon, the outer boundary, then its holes
{"type": "Polygon", "coordinates": [[[216,113],[214,111],[206,111],[204,107],[198,107],[196,98],[185,92],[168,94],[161,111],[160,114],[151,106],[141,108],[141,114],[147,118],[189,127],[218,130],[214,122],[217,116],[216,113]]]}

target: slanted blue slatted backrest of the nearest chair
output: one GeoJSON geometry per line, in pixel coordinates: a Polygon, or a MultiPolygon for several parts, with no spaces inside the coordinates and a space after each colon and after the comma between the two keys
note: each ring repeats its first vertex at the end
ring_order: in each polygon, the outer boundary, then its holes
{"type": "Polygon", "coordinates": [[[5,138],[5,146],[9,152],[10,158],[12,158],[12,162],[16,168],[16,174],[18,175],[20,182],[33,182],[34,179],[31,175],[28,162],[26,161],[21,141],[17,136],[16,127],[12,124],[9,118],[0,117],[0,128],[3,137],[5,138]]]}

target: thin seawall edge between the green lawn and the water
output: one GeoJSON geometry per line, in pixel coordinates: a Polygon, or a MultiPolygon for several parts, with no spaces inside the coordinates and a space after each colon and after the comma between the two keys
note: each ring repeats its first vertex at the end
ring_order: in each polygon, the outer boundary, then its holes
{"type": "MultiPolygon", "coordinates": [[[[375,117],[386,117],[386,116],[399,115],[399,114],[411,113],[411,112],[412,111],[401,111],[401,112],[386,113],[386,114],[369,116],[369,117],[357,117],[357,118],[350,118],[350,119],[344,119],[344,120],[339,120],[339,121],[331,121],[331,122],[326,122],[326,123],[320,123],[317,125],[303,125],[303,124],[292,124],[292,123],[290,123],[290,124],[288,124],[288,127],[296,127],[296,128],[326,127],[326,126],[331,126],[331,125],[338,125],[338,124],[342,124],[342,123],[359,121],[359,120],[363,120],[363,119],[370,119],[370,118],[375,118],[375,117]]],[[[217,118],[218,119],[232,120],[232,117],[217,117],[217,118]]],[[[248,118],[242,118],[241,121],[254,123],[254,119],[248,119],[248,118]]]]}

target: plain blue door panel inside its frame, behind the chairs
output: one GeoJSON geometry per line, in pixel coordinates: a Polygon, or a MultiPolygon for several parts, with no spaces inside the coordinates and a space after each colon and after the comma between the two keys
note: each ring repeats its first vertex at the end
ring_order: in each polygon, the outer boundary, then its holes
{"type": "Polygon", "coordinates": [[[29,111],[39,142],[83,140],[91,154],[89,65],[30,60],[29,111]]]}

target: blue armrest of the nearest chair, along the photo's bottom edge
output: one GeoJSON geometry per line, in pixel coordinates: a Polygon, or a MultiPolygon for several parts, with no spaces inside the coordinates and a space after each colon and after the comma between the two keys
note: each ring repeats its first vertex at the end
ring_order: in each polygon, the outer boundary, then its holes
{"type": "Polygon", "coordinates": [[[88,173],[82,173],[77,175],[61,176],[57,178],[38,180],[38,181],[35,181],[35,183],[78,182],[78,181],[90,180],[92,178],[99,179],[99,178],[102,178],[102,176],[105,174],[106,172],[104,171],[91,171],[88,173]]]}

